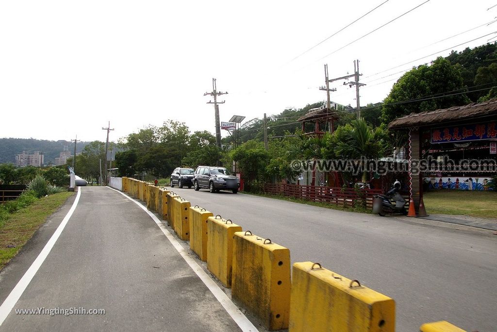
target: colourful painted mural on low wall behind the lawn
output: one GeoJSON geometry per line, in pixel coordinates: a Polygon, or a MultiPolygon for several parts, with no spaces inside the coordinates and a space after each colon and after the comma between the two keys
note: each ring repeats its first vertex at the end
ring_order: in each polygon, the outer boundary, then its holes
{"type": "Polygon", "coordinates": [[[430,189],[454,189],[454,190],[493,190],[491,186],[492,177],[424,177],[425,183],[430,189]]]}

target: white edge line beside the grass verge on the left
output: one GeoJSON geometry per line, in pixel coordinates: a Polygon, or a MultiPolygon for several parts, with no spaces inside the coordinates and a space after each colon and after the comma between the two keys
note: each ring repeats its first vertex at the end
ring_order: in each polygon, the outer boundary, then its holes
{"type": "Polygon", "coordinates": [[[76,195],[76,199],[74,200],[73,206],[71,206],[71,209],[66,214],[64,219],[62,219],[62,222],[60,223],[59,227],[57,227],[54,234],[52,234],[52,237],[50,238],[50,240],[48,240],[45,247],[43,247],[38,257],[36,257],[36,259],[33,261],[31,266],[27,269],[26,273],[24,273],[22,278],[19,280],[17,285],[15,285],[14,289],[12,289],[12,291],[7,296],[5,301],[3,301],[2,305],[0,306],[0,326],[3,324],[3,321],[5,321],[5,319],[7,318],[8,314],[10,314],[10,312],[12,311],[12,308],[15,306],[15,304],[21,297],[22,293],[31,282],[31,279],[33,279],[33,277],[35,276],[41,264],[43,264],[43,262],[45,261],[45,258],[47,258],[48,254],[50,253],[50,250],[52,250],[55,243],[57,242],[57,239],[59,239],[60,235],[62,234],[62,231],[67,225],[67,222],[73,215],[74,210],[76,210],[76,206],[78,205],[80,196],[81,196],[81,187],[78,189],[78,194],[76,195]]]}

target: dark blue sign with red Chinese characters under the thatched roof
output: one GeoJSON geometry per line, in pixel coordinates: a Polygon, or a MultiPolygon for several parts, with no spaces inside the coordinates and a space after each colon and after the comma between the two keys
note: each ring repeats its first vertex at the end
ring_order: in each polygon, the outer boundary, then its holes
{"type": "Polygon", "coordinates": [[[447,126],[431,130],[431,143],[464,142],[497,138],[496,122],[447,126]]]}

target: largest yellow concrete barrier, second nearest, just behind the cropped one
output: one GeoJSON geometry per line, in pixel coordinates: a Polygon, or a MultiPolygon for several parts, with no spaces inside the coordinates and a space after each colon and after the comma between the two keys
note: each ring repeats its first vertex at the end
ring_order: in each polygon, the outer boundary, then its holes
{"type": "Polygon", "coordinates": [[[293,264],[288,331],[395,331],[395,301],[321,267],[293,264]]]}

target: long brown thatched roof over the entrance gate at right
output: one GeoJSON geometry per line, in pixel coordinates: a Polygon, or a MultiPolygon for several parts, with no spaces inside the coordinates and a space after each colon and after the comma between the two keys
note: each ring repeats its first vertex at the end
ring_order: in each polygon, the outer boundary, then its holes
{"type": "Polygon", "coordinates": [[[497,98],[480,103],[474,102],[465,106],[437,109],[431,112],[411,113],[390,122],[388,129],[423,127],[492,115],[497,116],[497,98]]]}

